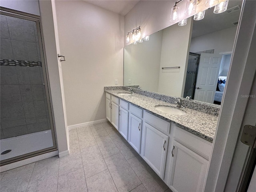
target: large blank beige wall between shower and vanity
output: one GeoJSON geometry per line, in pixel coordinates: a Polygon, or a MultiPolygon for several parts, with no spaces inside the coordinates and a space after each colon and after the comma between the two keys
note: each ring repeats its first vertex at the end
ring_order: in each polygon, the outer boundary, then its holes
{"type": "Polygon", "coordinates": [[[104,86],[123,85],[124,16],[56,1],[68,125],[106,118],[104,86]]]}

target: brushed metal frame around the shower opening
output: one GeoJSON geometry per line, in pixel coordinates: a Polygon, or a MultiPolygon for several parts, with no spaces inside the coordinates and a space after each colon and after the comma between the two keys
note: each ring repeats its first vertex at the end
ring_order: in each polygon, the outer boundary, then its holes
{"type": "Polygon", "coordinates": [[[38,156],[41,154],[45,154],[48,152],[56,151],[56,150],[58,150],[58,148],[57,148],[58,146],[57,146],[57,142],[56,142],[56,127],[55,127],[55,122],[54,122],[54,114],[53,114],[53,110],[52,110],[53,106],[52,106],[52,97],[51,97],[50,84],[49,84],[50,81],[49,81],[49,75],[48,75],[48,67],[47,67],[47,63],[46,63],[46,56],[44,54],[46,52],[45,46],[44,46],[44,37],[43,37],[43,34],[41,33],[41,29],[42,29],[41,18],[40,18],[40,16],[37,16],[34,14],[29,14],[29,13],[12,10],[9,8],[4,8],[4,7],[0,7],[0,14],[36,22],[38,43],[39,43],[39,47],[40,47],[40,55],[41,55],[41,62],[42,62],[42,70],[43,70],[43,74],[44,74],[44,85],[45,85],[44,88],[46,91],[48,113],[49,113],[50,126],[51,126],[50,128],[51,128],[51,132],[52,132],[52,142],[53,142],[53,146],[50,148],[46,148],[46,149],[38,150],[35,152],[31,152],[28,154],[24,154],[24,155],[9,158],[6,160],[2,160],[2,161],[0,161],[0,166],[3,166],[6,164],[14,163],[14,162],[24,160],[27,158],[31,158],[34,156],[38,156]]]}

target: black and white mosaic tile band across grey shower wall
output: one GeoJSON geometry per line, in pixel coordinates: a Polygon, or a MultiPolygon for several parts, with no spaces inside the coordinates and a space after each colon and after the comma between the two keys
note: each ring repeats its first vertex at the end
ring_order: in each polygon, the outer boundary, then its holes
{"type": "Polygon", "coordinates": [[[0,59],[1,66],[42,67],[42,62],[0,59]]]}

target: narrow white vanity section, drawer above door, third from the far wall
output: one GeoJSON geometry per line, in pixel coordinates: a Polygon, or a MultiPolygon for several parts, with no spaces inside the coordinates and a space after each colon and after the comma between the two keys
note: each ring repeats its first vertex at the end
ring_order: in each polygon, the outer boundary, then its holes
{"type": "Polygon", "coordinates": [[[129,117],[129,104],[123,100],[120,100],[119,104],[119,132],[128,140],[128,117],[129,117]]]}

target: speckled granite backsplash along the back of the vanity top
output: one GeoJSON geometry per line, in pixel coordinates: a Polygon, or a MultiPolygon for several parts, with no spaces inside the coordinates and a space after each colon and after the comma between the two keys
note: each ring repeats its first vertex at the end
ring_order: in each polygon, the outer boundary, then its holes
{"type": "MultiPolygon", "coordinates": [[[[126,86],[104,87],[104,90],[118,90],[118,89],[129,90],[129,87],[126,87],[126,86]]],[[[151,98],[158,99],[171,104],[174,104],[174,102],[177,101],[177,97],[173,97],[173,96],[168,96],[164,94],[159,94],[159,93],[145,91],[145,90],[138,90],[138,89],[133,89],[133,91],[136,94],[151,97],[151,98]]],[[[186,108],[193,109],[193,110],[200,111],[200,112],[214,115],[214,116],[218,116],[220,111],[220,106],[216,104],[209,104],[206,102],[201,102],[196,100],[182,99],[182,105],[186,108]]]]}

